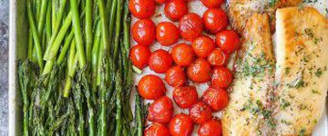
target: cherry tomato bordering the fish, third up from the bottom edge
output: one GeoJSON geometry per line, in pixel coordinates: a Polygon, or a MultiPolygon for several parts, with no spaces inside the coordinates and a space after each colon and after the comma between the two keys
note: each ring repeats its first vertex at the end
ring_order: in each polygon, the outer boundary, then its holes
{"type": "Polygon", "coordinates": [[[227,88],[232,82],[231,71],[226,67],[216,67],[212,71],[210,85],[213,88],[227,88]]]}

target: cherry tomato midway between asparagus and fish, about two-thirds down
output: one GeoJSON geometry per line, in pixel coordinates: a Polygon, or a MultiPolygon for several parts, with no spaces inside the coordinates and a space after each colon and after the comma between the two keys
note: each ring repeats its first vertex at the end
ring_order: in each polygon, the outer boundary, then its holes
{"type": "Polygon", "coordinates": [[[173,91],[173,99],[174,102],[176,102],[180,108],[183,109],[189,108],[198,100],[198,93],[196,87],[194,86],[177,87],[173,91]]]}

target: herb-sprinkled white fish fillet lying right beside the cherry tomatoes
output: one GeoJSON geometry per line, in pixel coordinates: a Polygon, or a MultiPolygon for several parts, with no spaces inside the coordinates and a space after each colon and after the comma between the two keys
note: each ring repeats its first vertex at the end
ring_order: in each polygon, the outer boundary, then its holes
{"type": "Polygon", "coordinates": [[[230,103],[222,114],[223,135],[271,134],[274,56],[268,15],[251,16],[231,84],[230,103]]]}

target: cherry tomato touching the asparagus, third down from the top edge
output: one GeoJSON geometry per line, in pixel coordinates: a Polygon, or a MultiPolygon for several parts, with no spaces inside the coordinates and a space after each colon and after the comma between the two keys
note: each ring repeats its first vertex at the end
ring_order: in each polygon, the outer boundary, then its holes
{"type": "Polygon", "coordinates": [[[133,65],[137,66],[139,69],[143,69],[149,62],[150,54],[151,52],[148,46],[137,44],[131,48],[129,56],[133,65]]]}

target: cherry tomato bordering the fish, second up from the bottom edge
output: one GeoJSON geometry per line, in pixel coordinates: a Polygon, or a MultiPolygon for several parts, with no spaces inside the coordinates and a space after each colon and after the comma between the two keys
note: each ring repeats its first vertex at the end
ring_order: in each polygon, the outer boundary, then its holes
{"type": "Polygon", "coordinates": [[[228,105],[228,92],[224,89],[209,88],[203,93],[202,101],[207,103],[214,112],[220,111],[228,105]]]}

